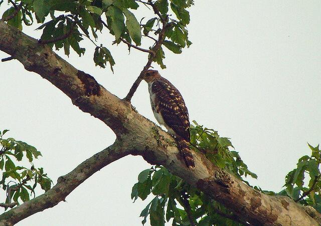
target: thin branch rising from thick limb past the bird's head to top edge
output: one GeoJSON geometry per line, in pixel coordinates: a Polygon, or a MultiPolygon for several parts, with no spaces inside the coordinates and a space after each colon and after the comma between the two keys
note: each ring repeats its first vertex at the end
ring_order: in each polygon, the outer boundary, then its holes
{"type": "MultiPolygon", "coordinates": [[[[161,21],[163,23],[163,27],[162,27],[162,30],[161,32],[159,33],[158,35],[158,40],[155,41],[155,45],[152,47],[152,51],[153,52],[157,52],[159,48],[161,48],[162,44],[163,44],[163,41],[165,39],[165,31],[168,27],[168,18],[163,18],[163,16],[161,15],[161,13],[159,13],[158,9],[155,7],[155,5],[151,2],[151,0],[148,0],[149,4],[152,6],[154,12],[159,16],[159,18],[161,18],[161,21]]],[[[142,80],[142,77],[145,73],[146,70],[148,70],[148,68],[150,67],[151,65],[151,62],[154,60],[154,58],[156,57],[156,55],[149,55],[148,56],[148,61],[146,63],[146,65],[143,67],[142,71],[140,72],[139,76],[136,78],[136,80],[134,81],[134,83],[132,84],[131,88],[129,89],[129,92],[128,94],[125,96],[124,100],[127,101],[127,102],[130,102],[132,96],[134,95],[139,83],[141,82],[142,80]]]]}

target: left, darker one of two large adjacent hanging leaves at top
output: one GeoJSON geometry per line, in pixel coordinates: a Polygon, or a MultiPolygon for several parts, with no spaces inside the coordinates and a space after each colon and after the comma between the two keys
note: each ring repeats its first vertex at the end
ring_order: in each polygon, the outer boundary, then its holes
{"type": "Polygon", "coordinates": [[[111,18],[111,28],[114,32],[116,40],[119,39],[125,30],[124,14],[119,8],[110,6],[106,11],[106,16],[111,18]]]}

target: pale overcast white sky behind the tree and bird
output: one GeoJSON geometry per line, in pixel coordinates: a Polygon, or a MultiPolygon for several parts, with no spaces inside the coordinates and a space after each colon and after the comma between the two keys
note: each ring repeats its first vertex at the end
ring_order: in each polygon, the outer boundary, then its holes
{"type": "MultiPolygon", "coordinates": [[[[306,142],[321,142],[320,8],[319,0],[196,0],[188,26],[193,44],[182,54],[167,51],[167,69],[159,69],[183,94],[191,120],[231,137],[259,176],[251,183],[263,189],[281,190],[285,174],[310,153],[306,142]]],[[[34,28],[24,31],[40,35],[34,28]]],[[[59,54],[122,98],[146,53],[128,54],[124,44],[111,46],[111,40],[107,34],[100,39],[115,58],[114,74],[94,66],[88,41],[82,42],[83,57],[59,54]]],[[[43,157],[35,164],[54,182],[113,143],[110,128],[17,60],[0,63],[0,79],[0,129],[36,146],[43,157]]],[[[155,121],[145,82],[132,104],[155,121]]],[[[17,225],[140,225],[148,201],[132,203],[130,192],[148,167],[140,156],[126,156],[87,179],[66,202],[17,225]]]]}

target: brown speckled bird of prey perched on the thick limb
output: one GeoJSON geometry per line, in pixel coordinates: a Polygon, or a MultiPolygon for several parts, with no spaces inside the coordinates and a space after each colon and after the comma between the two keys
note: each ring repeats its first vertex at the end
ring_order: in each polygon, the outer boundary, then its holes
{"type": "Polygon", "coordinates": [[[159,124],[176,137],[178,149],[188,167],[195,167],[189,148],[190,119],[180,91],[157,70],[147,70],[143,79],[148,83],[151,109],[159,124]]]}

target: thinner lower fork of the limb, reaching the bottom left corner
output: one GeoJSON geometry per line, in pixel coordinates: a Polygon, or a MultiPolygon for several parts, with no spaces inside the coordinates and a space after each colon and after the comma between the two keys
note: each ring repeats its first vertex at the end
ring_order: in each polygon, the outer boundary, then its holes
{"type": "MultiPolygon", "coordinates": [[[[57,205],[60,201],[64,201],[70,192],[93,173],[127,154],[126,150],[122,148],[121,143],[116,141],[113,145],[83,161],[68,174],[60,176],[57,184],[44,194],[1,214],[0,225],[14,225],[36,212],[57,205]]],[[[4,206],[1,204],[0,206],[4,206]]],[[[10,206],[14,207],[17,203],[15,205],[14,203],[10,204],[12,204],[10,206]]]]}

